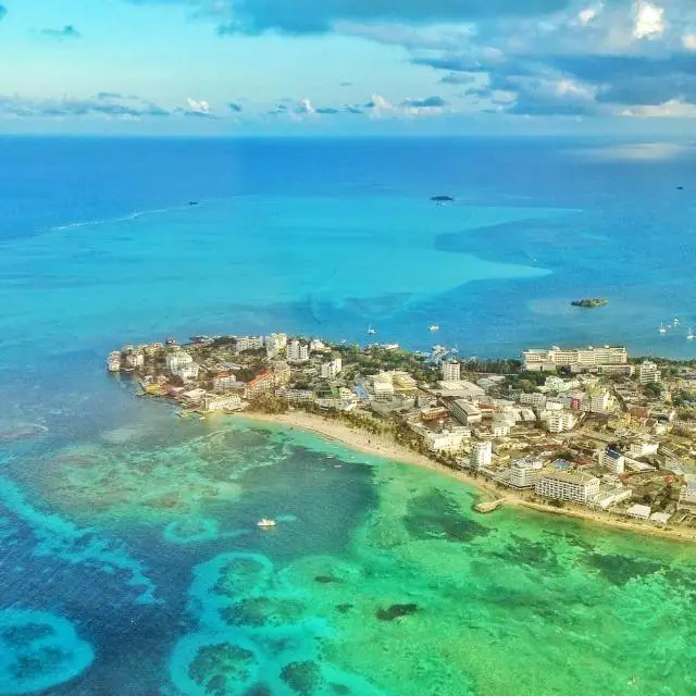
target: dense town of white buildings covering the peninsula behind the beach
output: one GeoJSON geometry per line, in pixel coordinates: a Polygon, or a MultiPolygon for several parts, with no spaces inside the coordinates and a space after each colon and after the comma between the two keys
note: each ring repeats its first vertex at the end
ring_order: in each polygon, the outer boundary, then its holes
{"type": "Polygon", "coordinates": [[[696,362],[621,346],[464,360],[273,333],[126,345],[108,369],[184,418],[301,410],[390,437],[504,492],[480,511],[509,495],[696,529],[696,362]]]}

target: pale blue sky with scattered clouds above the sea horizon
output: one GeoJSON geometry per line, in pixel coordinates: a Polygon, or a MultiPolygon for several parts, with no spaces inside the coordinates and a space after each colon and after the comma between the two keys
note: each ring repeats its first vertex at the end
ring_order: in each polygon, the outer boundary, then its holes
{"type": "Polygon", "coordinates": [[[0,133],[691,136],[696,0],[0,0],[0,133]]]}

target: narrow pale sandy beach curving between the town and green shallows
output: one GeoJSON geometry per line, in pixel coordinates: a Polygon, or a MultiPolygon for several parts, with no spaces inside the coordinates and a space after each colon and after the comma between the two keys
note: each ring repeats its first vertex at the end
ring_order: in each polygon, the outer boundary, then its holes
{"type": "MultiPolygon", "coordinates": [[[[556,514],[568,519],[599,524],[616,531],[629,531],[635,534],[647,535],[666,540],[680,543],[696,542],[696,530],[687,531],[678,527],[652,526],[650,523],[641,523],[630,519],[618,518],[608,512],[582,510],[577,508],[556,508],[549,505],[526,500],[517,495],[512,489],[506,488],[505,490],[501,490],[497,488],[493,482],[485,478],[474,478],[464,471],[449,469],[428,457],[419,455],[418,452],[399,445],[390,438],[372,435],[357,427],[351,427],[341,421],[330,421],[321,415],[307,413],[306,411],[296,410],[281,414],[243,412],[234,413],[233,418],[307,431],[318,435],[319,437],[339,443],[350,449],[365,455],[389,459],[412,467],[420,467],[433,471],[434,473],[448,476],[449,478],[456,478],[472,488],[474,495],[478,498],[477,502],[498,500],[500,501],[498,507],[510,506],[512,508],[556,514]]],[[[492,512],[488,512],[487,514],[492,514],[492,512]]]]}

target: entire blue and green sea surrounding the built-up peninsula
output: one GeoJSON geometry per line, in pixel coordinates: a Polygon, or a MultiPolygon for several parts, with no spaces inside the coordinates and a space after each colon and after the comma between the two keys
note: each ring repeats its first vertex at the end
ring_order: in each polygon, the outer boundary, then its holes
{"type": "Polygon", "coordinates": [[[667,151],[0,139],[0,696],[695,693],[691,546],[475,515],[426,471],[182,421],[103,360],[432,323],[465,356],[692,357],[696,169],[667,151]]]}

